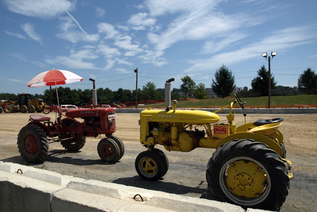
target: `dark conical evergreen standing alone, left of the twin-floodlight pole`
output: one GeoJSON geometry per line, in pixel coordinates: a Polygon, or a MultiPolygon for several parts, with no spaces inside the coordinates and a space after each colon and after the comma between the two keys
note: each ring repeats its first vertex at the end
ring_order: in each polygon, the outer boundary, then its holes
{"type": "Polygon", "coordinates": [[[235,76],[232,75],[231,70],[229,70],[224,64],[216,71],[215,80],[212,79],[211,88],[217,94],[224,98],[229,96],[232,90],[236,87],[235,76]]]}

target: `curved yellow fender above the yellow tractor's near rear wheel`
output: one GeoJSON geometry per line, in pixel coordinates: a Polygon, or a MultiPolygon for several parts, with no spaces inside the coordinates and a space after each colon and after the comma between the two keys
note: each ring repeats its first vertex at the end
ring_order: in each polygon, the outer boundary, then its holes
{"type": "Polygon", "coordinates": [[[252,133],[252,132],[239,132],[239,133],[234,133],[229,136],[226,136],[217,143],[216,149],[221,147],[221,145],[223,145],[224,143],[227,143],[235,139],[252,139],[255,142],[261,142],[268,145],[270,149],[273,149],[280,156],[282,156],[282,153],[283,153],[281,146],[277,142],[273,141],[267,136],[263,136],[261,134],[252,133]]]}

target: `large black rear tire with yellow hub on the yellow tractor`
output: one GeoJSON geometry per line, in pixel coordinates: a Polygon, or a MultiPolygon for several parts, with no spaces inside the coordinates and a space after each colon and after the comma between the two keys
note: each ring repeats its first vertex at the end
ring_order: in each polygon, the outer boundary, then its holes
{"type": "Polygon", "coordinates": [[[288,170],[280,156],[250,139],[218,148],[208,162],[206,180],[216,200],[243,209],[278,209],[289,189],[288,170]]]}

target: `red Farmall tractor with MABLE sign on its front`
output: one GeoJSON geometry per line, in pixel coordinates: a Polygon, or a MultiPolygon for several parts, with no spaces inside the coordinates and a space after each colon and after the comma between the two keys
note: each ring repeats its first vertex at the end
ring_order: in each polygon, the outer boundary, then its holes
{"type": "MultiPolygon", "coordinates": [[[[91,81],[94,82],[92,79],[91,81]]],[[[54,111],[58,116],[55,122],[47,116],[30,116],[29,123],[20,130],[17,138],[21,156],[27,162],[40,163],[45,160],[51,142],[61,142],[68,151],[78,151],[85,145],[86,137],[104,134],[106,137],[101,139],[97,146],[98,155],[108,163],[120,160],[124,155],[124,144],[118,137],[113,136],[116,131],[114,109],[93,106],[97,102],[95,96],[94,87],[90,108],[70,110],[65,115],[58,108],[52,107],[52,102],[47,102],[50,107],[47,112],[43,110],[43,113],[54,111]],[[75,118],[81,118],[83,122],[75,118]]]]}

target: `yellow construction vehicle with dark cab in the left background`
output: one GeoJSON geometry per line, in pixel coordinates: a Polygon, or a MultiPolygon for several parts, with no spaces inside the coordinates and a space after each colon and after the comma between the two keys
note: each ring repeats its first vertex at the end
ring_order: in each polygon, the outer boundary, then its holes
{"type": "Polygon", "coordinates": [[[35,111],[38,113],[42,113],[44,102],[42,99],[32,98],[32,94],[19,94],[18,104],[20,106],[21,113],[34,113],[35,111]]]}

